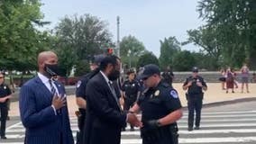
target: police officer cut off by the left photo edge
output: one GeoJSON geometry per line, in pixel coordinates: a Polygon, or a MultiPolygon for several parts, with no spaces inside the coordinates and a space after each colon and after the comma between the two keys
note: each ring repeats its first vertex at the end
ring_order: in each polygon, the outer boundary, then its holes
{"type": "Polygon", "coordinates": [[[5,137],[6,118],[8,115],[7,101],[12,97],[11,89],[8,85],[5,85],[5,74],[0,72],[0,113],[1,113],[1,125],[0,136],[1,139],[7,139],[5,137]]]}

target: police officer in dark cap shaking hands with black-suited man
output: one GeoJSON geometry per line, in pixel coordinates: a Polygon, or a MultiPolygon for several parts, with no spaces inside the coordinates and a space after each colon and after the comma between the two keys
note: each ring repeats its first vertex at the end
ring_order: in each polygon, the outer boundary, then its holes
{"type": "Polygon", "coordinates": [[[139,72],[147,89],[130,112],[142,111],[142,144],[178,144],[177,122],[182,117],[178,93],[160,78],[160,68],[149,64],[139,72]]]}

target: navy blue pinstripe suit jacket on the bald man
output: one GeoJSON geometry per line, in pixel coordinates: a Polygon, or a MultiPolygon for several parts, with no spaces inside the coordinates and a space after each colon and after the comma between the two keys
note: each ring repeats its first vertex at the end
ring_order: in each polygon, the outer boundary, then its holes
{"type": "MultiPolygon", "coordinates": [[[[55,82],[59,94],[65,94],[65,88],[55,82]]],[[[73,144],[70,130],[68,107],[60,109],[56,115],[51,107],[52,94],[36,76],[25,83],[20,91],[19,103],[26,144],[73,144]]]]}

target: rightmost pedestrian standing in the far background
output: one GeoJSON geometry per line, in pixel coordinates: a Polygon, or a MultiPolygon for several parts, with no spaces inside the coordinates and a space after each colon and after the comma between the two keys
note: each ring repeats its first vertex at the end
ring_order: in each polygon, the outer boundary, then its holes
{"type": "Polygon", "coordinates": [[[243,87],[245,85],[246,87],[246,92],[249,93],[249,68],[247,67],[247,65],[244,63],[242,68],[241,68],[241,77],[242,77],[242,85],[241,85],[241,93],[243,93],[243,87]]]}

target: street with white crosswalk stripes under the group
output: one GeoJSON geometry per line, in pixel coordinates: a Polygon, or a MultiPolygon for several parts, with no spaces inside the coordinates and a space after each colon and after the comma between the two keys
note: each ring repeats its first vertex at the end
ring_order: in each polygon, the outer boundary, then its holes
{"type": "MultiPolygon", "coordinates": [[[[71,129],[75,138],[78,130],[76,117],[70,117],[71,129]]],[[[201,129],[187,131],[187,110],[178,121],[180,144],[255,144],[256,143],[256,101],[230,103],[204,107],[201,129]]],[[[18,117],[7,121],[6,137],[1,144],[22,144],[24,129],[18,117]]],[[[140,144],[140,131],[122,132],[122,144],[140,144]]]]}

